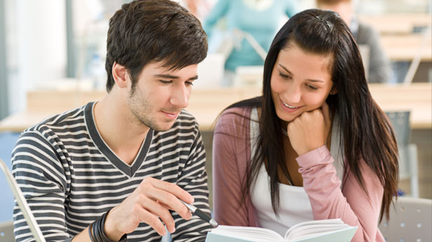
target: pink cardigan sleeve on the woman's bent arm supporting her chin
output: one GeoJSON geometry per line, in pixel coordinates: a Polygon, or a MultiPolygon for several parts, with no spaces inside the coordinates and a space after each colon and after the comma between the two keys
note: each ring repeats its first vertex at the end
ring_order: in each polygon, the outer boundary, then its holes
{"type": "Polygon", "coordinates": [[[383,240],[377,222],[384,188],[364,160],[359,165],[367,194],[349,169],[341,190],[341,180],[325,146],[299,156],[297,162],[315,220],[341,218],[346,224],[358,226],[352,241],[383,240]]]}

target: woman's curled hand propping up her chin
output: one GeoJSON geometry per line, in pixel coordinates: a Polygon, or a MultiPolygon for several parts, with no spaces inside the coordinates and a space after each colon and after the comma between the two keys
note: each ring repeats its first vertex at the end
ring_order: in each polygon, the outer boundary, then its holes
{"type": "Polygon", "coordinates": [[[329,105],[326,102],[318,109],[304,112],[288,123],[287,133],[293,149],[301,156],[322,147],[331,124],[329,105]]]}

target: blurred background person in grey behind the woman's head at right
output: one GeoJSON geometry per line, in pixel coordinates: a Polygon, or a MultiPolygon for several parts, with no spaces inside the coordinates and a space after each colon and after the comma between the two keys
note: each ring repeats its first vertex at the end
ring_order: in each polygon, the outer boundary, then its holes
{"type": "Polygon", "coordinates": [[[358,46],[369,47],[369,63],[365,67],[369,83],[386,83],[391,80],[390,60],[379,42],[379,33],[372,26],[365,25],[355,18],[353,1],[351,0],[316,0],[318,8],[339,13],[350,27],[358,46]]]}

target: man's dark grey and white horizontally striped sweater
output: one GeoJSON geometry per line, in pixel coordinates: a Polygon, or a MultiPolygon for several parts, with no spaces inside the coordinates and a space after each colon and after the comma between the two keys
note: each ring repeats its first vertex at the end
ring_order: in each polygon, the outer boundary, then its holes
{"type": "MultiPolygon", "coordinates": [[[[93,119],[94,102],[51,116],[23,131],[12,153],[13,175],[46,241],[69,241],[132,193],[144,177],[178,184],[207,213],[209,190],[201,134],[184,110],[164,132],[149,130],[131,166],[100,137],[93,119]]],[[[204,241],[209,224],[195,215],[176,222],[174,241],[204,241]]],[[[13,210],[16,241],[33,241],[18,206],[13,210]]],[[[128,241],[160,241],[141,222],[128,241]]]]}

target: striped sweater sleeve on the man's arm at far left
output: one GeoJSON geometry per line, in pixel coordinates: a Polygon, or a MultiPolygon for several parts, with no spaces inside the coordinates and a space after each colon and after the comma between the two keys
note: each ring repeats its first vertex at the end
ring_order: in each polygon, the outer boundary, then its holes
{"type": "MultiPolygon", "coordinates": [[[[67,175],[53,146],[36,131],[22,133],[12,153],[12,173],[46,241],[70,239],[65,224],[67,175]]],[[[30,227],[15,201],[15,240],[34,241],[30,227]]]]}

